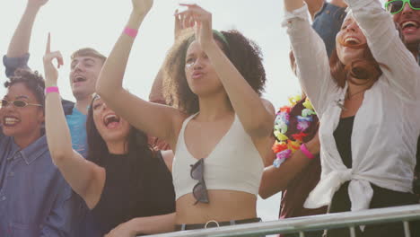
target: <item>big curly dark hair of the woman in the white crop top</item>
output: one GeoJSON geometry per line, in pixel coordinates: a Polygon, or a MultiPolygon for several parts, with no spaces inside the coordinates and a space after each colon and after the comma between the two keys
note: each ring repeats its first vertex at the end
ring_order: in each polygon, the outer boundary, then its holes
{"type": "MultiPolygon", "coordinates": [[[[223,53],[229,58],[249,85],[258,95],[264,91],[266,71],[262,64],[262,52],[258,45],[245,38],[239,31],[222,31],[225,40],[218,32],[214,40],[222,46],[223,53]]],[[[193,31],[184,31],[170,49],[163,66],[163,96],[167,104],[187,114],[199,110],[198,96],[188,86],[185,75],[185,60],[189,45],[195,40],[193,31]]]]}

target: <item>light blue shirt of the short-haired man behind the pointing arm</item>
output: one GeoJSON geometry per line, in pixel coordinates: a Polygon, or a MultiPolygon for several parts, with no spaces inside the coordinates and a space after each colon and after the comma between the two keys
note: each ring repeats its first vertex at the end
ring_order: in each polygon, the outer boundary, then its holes
{"type": "Polygon", "coordinates": [[[68,128],[72,136],[72,145],[74,151],[82,154],[84,158],[87,157],[87,136],[86,136],[86,118],[81,111],[73,107],[71,114],[66,115],[68,128]]]}

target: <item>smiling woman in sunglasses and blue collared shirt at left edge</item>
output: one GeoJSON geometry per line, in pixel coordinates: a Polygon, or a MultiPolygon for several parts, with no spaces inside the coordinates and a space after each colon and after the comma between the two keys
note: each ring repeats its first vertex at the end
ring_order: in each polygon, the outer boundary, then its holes
{"type": "Polygon", "coordinates": [[[18,70],[0,108],[0,233],[70,236],[72,191],[51,162],[44,136],[44,80],[18,70]]]}

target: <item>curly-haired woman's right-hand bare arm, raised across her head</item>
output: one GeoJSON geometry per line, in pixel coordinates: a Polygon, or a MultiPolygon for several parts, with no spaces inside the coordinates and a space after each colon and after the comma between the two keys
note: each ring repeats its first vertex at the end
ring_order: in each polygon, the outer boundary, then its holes
{"type": "MultiPolygon", "coordinates": [[[[247,83],[238,69],[223,53],[213,37],[212,14],[206,12],[197,4],[181,4],[188,6],[183,13],[194,19],[196,39],[206,52],[216,74],[219,76],[223,88],[233,110],[249,136],[267,137],[271,135],[275,118],[275,111],[270,103],[261,100],[258,93],[247,83]]],[[[186,22],[189,22],[188,20],[186,22]]]]}

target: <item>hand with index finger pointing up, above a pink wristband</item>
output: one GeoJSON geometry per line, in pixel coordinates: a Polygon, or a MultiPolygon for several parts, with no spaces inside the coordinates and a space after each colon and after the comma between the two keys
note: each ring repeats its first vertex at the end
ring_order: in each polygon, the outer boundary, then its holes
{"type": "Polygon", "coordinates": [[[63,66],[63,56],[60,51],[51,52],[51,35],[48,33],[47,48],[43,57],[46,86],[57,85],[58,70],[52,61],[57,59],[57,68],[63,66]]]}

